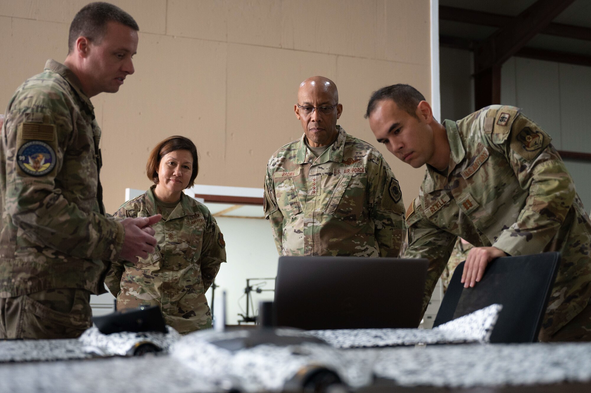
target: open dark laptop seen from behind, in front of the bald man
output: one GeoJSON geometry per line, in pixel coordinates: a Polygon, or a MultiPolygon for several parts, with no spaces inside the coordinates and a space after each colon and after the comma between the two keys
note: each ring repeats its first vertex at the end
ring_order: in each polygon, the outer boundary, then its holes
{"type": "Polygon", "coordinates": [[[280,257],[277,326],[417,327],[427,266],[423,258],[280,257]]]}

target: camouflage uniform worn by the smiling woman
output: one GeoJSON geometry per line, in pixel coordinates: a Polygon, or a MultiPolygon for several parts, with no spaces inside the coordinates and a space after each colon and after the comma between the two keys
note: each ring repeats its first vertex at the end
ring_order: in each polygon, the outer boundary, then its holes
{"type": "MultiPolygon", "coordinates": [[[[115,217],[157,214],[152,186],[125,202],[115,217]]],[[[180,333],[212,326],[205,293],[226,261],[226,244],[207,207],[185,194],[166,220],[152,226],[158,242],[153,254],[138,264],[113,262],[106,284],[117,297],[117,309],[160,306],[167,325],[180,333]]]]}

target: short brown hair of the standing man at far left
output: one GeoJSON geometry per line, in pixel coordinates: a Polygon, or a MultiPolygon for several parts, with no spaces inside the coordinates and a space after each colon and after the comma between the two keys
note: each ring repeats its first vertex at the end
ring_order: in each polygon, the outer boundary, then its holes
{"type": "Polygon", "coordinates": [[[70,24],[68,37],[68,53],[72,53],[78,37],[86,37],[93,44],[99,44],[105,37],[108,22],[118,22],[122,25],[139,30],[135,19],[116,5],[102,1],[84,6],[70,24]]]}

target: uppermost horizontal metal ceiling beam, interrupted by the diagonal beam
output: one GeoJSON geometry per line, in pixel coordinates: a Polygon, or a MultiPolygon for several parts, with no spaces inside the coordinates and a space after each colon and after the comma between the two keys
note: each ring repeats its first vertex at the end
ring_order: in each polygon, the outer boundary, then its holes
{"type": "MultiPolygon", "coordinates": [[[[502,27],[511,23],[515,17],[510,15],[493,14],[492,12],[474,11],[472,9],[456,8],[446,5],[439,6],[439,19],[444,21],[462,22],[473,25],[502,27]]],[[[591,41],[591,28],[550,23],[541,34],[556,35],[558,37],[575,38],[591,41]]]]}

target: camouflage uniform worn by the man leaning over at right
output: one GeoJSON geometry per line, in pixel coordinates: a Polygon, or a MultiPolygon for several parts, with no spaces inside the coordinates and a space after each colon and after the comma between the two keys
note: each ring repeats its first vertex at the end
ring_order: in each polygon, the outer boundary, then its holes
{"type": "Polygon", "coordinates": [[[486,107],[444,125],[451,148],[447,176],[427,165],[407,211],[405,256],[430,260],[424,304],[457,236],[511,256],[559,251],[540,332],[540,340],[553,340],[591,296],[591,221],[569,172],[550,136],[515,107],[486,107]]]}

